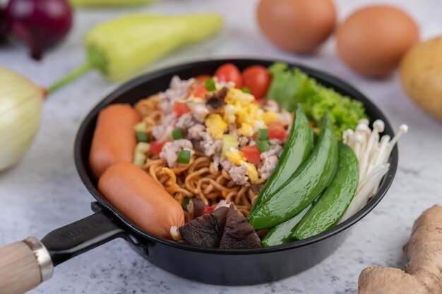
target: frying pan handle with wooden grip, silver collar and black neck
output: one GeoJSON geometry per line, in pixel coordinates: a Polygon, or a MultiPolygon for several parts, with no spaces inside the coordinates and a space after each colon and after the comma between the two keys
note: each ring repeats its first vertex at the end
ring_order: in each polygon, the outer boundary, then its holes
{"type": "Polygon", "coordinates": [[[41,241],[28,237],[0,248],[0,293],[25,293],[51,278],[57,264],[117,237],[130,237],[117,217],[97,204],[92,209],[92,216],[53,230],[41,241]]]}

